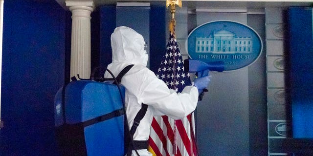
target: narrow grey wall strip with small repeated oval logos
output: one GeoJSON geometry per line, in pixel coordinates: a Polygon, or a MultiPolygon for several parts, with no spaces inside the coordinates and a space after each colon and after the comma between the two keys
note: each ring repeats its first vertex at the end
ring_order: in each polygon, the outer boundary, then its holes
{"type": "Polygon", "coordinates": [[[266,59],[268,95],[268,156],[289,155],[282,148],[290,137],[286,98],[286,51],[284,8],[265,8],[266,12],[266,59]]]}

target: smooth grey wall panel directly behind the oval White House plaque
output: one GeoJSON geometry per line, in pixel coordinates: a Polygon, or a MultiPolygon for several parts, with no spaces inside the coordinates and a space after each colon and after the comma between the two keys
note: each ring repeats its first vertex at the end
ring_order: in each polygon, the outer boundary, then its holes
{"type": "MultiPolygon", "coordinates": [[[[214,20],[247,24],[247,14],[197,12],[197,25],[214,20]]],[[[249,156],[248,68],[211,75],[196,114],[200,155],[249,156]]]]}

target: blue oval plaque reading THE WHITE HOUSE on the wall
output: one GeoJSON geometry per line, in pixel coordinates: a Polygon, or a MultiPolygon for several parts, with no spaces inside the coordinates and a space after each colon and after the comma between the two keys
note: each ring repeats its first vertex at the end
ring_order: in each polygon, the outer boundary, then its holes
{"type": "Polygon", "coordinates": [[[260,36],[242,23],[220,20],[204,23],[188,36],[191,59],[224,61],[225,71],[241,69],[257,60],[262,52],[260,36]]]}

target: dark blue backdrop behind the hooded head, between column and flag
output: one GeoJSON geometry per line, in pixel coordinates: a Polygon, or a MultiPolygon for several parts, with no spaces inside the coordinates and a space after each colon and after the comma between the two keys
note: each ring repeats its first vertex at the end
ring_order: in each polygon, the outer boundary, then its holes
{"type": "MultiPolygon", "coordinates": [[[[140,8],[140,7],[138,7],[140,8]]],[[[106,67],[109,63],[112,62],[112,49],[111,49],[111,34],[113,33],[116,26],[129,26],[133,29],[137,28],[139,33],[141,33],[145,37],[146,41],[148,41],[148,47],[150,48],[149,58],[150,58],[150,69],[154,72],[157,71],[158,66],[160,65],[160,60],[165,52],[165,45],[166,45],[166,37],[168,36],[166,33],[166,20],[165,20],[165,6],[158,6],[152,5],[150,6],[150,14],[149,15],[149,24],[148,25],[140,25],[138,23],[142,23],[142,19],[131,19],[132,23],[128,23],[127,20],[124,22],[121,21],[122,19],[118,14],[118,10],[116,10],[115,6],[100,6],[99,7],[100,17],[96,17],[100,21],[99,26],[99,40],[94,39],[92,44],[98,45],[99,42],[99,60],[96,57],[92,57],[93,61],[99,61],[100,66],[106,67]],[[119,20],[119,21],[117,21],[119,20]],[[139,27],[139,28],[138,28],[139,27]],[[141,27],[141,28],[140,28],[141,27]],[[142,32],[141,29],[145,31],[142,32]],[[149,32],[148,34],[144,34],[149,32]],[[153,58],[153,59],[152,59],[153,58]]],[[[136,9],[134,9],[136,10],[136,9]]],[[[145,12],[145,9],[142,9],[145,12]]],[[[125,10],[124,10],[125,11],[125,10]]],[[[133,11],[128,8],[127,14],[134,16],[134,14],[140,14],[140,12],[133,11]]],[[[125,14],[122,11],[122,8],[119,8],[119,14],[125,14]]],[[[95,13],[97,15],[97,13],[95,13]]],[[[123,17],[125,18],[125,17],[123,17]]],[[[130,19],[128,19],[130,20],[130,19]]],[[[147,21],[145,21],[147,22],[147,21]]],[[[92,22],[91,25],[97,25],[96,22],[92,22]]],[[[97,31],[97,30],[92,30],[97,31]]],[[[92,33],[92,32],[91,32],[92,33]]]]}

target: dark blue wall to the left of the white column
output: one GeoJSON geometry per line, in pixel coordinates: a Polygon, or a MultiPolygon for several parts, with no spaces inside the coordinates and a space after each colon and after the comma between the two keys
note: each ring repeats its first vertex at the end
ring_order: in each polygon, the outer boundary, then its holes
{"type": "Polygon", "coordinates": [[[1,156],[59,156],[53,102],[68,70],[69,16],[55,0],[4,2],[1,156]]]}

